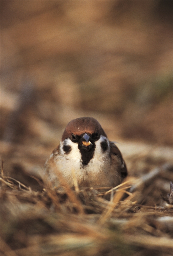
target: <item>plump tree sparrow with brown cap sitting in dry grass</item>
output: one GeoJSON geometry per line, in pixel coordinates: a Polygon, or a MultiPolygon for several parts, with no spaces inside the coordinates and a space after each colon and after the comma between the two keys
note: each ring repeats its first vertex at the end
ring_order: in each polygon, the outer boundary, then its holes
{"type": "Polygon", "coordinates": [[[54,186],[59,185],[59,173],[70,187],[74,177],[80,187],[115,187],[127,176],[120,150],[93,117],[76,118],[67,124],[45,168],[54,186]]]}

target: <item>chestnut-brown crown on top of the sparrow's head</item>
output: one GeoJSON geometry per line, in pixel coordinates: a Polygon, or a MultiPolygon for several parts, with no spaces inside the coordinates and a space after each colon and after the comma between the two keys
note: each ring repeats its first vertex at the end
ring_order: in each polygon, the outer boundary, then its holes
{"type": "Polygon", "coordinates": [[[100,123],[93,117],[80,117],[71,120],[62,135],[62,141],[65,138],[71,136],[71,134],[81,135],[84,133],[93,134],[98,131],[99,134],[102,134],[107,137],[100,123]]]}

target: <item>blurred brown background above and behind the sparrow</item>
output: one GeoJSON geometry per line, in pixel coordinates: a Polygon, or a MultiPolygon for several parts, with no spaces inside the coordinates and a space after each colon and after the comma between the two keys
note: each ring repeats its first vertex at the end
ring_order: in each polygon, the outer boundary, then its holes
{"type": "Polygon", "coordinates": [[[173,145],[172,0],[1,0],[0,15],[8,171],[42,169],[81,116],[127,155],[131,142],[173,145]]]}

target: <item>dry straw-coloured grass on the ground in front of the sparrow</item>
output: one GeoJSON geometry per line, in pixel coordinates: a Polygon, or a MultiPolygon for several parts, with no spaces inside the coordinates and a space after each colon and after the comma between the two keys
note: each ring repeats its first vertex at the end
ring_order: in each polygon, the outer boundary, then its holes
{"type": "Polygon", "coordinates": [[[2,167],[1,255],[172,255],[172,187],[153,204],[156,181],[163,174],[173,180],[171,168],[164,164],[112,189],[73,190],[60,177],[61,187],[38,180],[42,190],[34,191],[2,167]]]}

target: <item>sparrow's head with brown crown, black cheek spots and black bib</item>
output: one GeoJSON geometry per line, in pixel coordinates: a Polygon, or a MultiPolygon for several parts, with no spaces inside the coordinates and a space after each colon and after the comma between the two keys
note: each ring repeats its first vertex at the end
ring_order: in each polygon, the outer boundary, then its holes
{"type": "Polygon", "coordinates": [[[61,141],[66,154],[70,153],[74,143],[77,144],[83,164],[87,165],[93,158],[98,140],[104,152],[108,148],[108,139],[100,123],[93,117],[80,117],[67,124],[61,141]]]}

